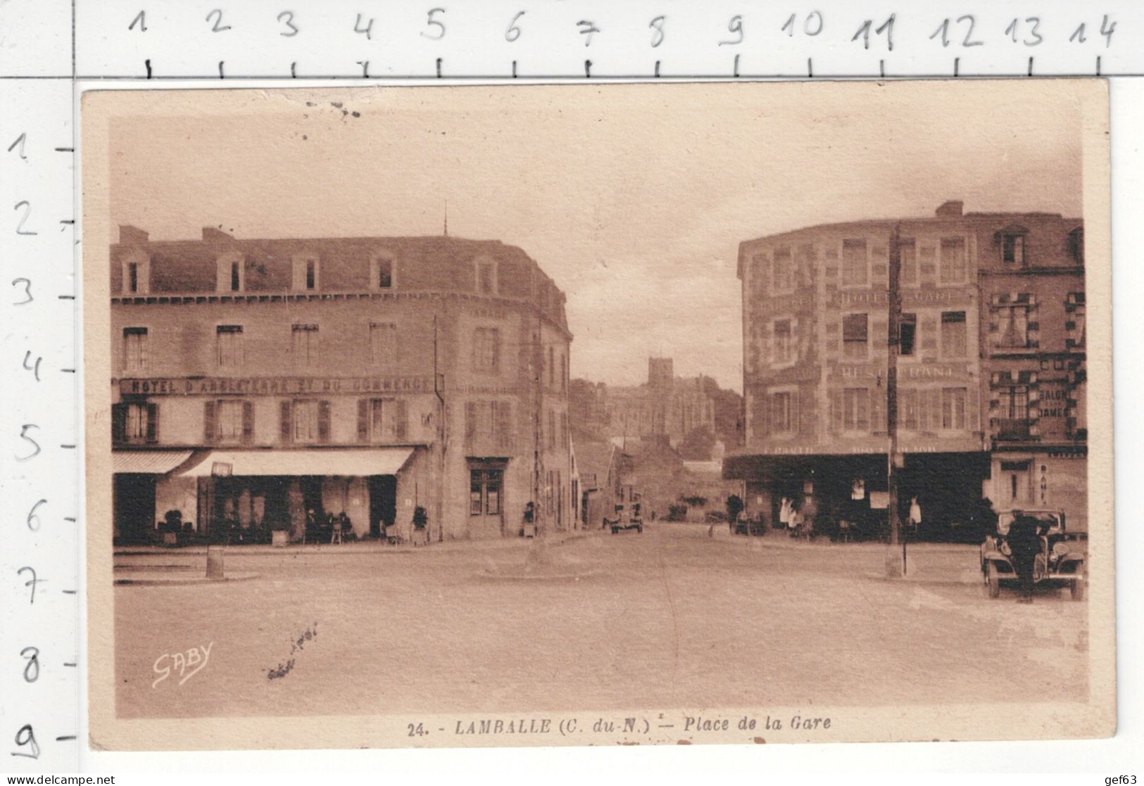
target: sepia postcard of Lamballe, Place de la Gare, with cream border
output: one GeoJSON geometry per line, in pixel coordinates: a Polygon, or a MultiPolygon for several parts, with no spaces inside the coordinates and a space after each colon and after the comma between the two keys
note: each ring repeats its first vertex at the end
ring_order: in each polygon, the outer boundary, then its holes
{"type": "Polygon", "coordinates": [[[1114,733],[1107,117],[86,93],[90,745],[1114,733]]]}

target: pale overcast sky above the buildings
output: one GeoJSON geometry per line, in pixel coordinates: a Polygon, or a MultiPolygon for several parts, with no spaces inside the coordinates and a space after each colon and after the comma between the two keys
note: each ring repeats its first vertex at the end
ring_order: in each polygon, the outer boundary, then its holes
{"type": "Polygon", "coordinates": [[[740,390],[740,240],[947,199],[1080,215],[1074,96],[1040,80],[135,94],[117,98],[110,219],[152,239],[437,235],[447,200],[450,235],[517,245],[566,293],[574,376],[638,383],[661,354],[740,390]]]}

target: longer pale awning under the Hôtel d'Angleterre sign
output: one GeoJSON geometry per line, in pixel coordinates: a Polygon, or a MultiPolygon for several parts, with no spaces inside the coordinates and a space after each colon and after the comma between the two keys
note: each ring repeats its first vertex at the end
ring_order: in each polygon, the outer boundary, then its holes
{"type": "Polygon", "coordinates": [[[212,475],[396,475],[413,454],[412,447],[288,451],[208,451],[183,477],[212,475]]]}

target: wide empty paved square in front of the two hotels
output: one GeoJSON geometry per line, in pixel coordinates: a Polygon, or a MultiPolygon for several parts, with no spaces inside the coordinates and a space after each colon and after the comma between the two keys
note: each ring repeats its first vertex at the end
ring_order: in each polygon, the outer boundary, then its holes
{"type": "MultiPolygon", "coordinates": [[[[876,578],[880,547],[717,534],[659,524],[572,540],[549,554],[585,578],[561,581],[487,578],[524,564],[518,541],[399,554],[229,549],[228,572],[259,578],[116,587],[118,713],[1028,700],[1044,694],[1046,667],[1055,700],[1087,692],[1087,604],[1067,592],[1032,605],[1011,590],[985,598],[967,583],[974,547],[917,547],[917,580],[890,582],[876,578]],[[205,666],[177,669],[204,649],[205,666]],[[176,652],[158,662],[172,676],[152,686],[157,659],[176,652]]],[[[205,557],[117,557],[161,563],[205,557]]]]}

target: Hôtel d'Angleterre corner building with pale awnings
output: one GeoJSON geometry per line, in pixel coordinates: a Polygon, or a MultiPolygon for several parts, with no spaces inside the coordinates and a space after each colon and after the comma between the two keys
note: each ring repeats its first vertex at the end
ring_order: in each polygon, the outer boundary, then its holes
{"type": "Polygon", "coordinates": [[[564,294],[523,251],[452,237],[110,249],[114,531],[205,537],[344,511],[359,537],[575,521],[564,294]],[[392,529],[389,532],[394,532],[392,529]],[[213,533],[213,534],[212,534],[213,533]]]}

